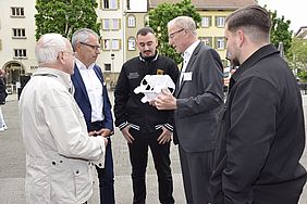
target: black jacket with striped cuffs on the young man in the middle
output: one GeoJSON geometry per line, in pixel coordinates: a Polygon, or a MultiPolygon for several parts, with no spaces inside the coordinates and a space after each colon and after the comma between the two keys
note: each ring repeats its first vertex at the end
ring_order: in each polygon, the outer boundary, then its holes
{"type": "Polygon", "coordinates": [[[146,61],[140,56],[124,63],[114,90],[115,126],[120,129],[132,124],[140,131],[154,131],[158,125],[164,125],[173,131],[173,111],[159,111],[143,103],[143,93],[134,93],[146,75],[169,75],[174,82],[179,77],[175,62],[169,58],[156,55],[154,60],[146,61]]]}

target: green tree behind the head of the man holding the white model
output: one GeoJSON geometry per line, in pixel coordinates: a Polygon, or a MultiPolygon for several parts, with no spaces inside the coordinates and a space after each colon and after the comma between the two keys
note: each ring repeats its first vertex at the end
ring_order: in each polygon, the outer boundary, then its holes
{"type": "Polygon", "coordinates": [[[181,15],[191,16],[195,21],[197,27],[199,27],[201,16],[191,3],[191,0],[182,0],[179,3],[161,3],[156,9],[149,11],[149,26],[157,34],[159,40],[159,53],[174,59],[177,64],[182,62],[182,58],[169,46],[167,25],[169,21],[181,15]]]}

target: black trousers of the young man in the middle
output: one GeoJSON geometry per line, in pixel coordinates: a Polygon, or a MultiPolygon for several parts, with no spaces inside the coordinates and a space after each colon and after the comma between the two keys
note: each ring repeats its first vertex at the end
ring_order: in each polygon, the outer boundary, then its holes
{"type": "Polygon", "coordinates": [[[133,203],[145,204],[146,201],[146,167],[148,161],[148,146],[151,150],[155,168],[158,175],[159,201],[163,204],[173,204],[173,179],[171,173],[170,142],[159,144],[158,137],[162,130],[152,132],[140,132],[130,129],[134,137],[132,144],[128,144],[130,161],[132,164],[133,203]]]}

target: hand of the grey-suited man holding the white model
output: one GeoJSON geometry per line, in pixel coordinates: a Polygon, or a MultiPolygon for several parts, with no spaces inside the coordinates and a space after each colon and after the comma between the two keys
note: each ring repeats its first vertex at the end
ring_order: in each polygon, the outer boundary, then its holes
{"type": "Polygon", "coordinates": [[[158,98],[155,100],[155,105],[158,110],[175,110],[176,98],[173,97],[169,89],[162,89],[161,93],[158,94],[158,98]]]}

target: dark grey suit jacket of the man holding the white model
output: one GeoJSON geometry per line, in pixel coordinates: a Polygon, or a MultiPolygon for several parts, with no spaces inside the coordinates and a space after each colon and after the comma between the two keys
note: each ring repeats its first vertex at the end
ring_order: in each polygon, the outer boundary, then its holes
{"type": "Polygon", "coordinates": [[[174,143],[180,143],[186,152],[212,150],[216,148],[216,113],[223,103],[223,68],[218,52],[200,42],[185,73],[192,73],[192,80],[176,84],[174,143]]]}

